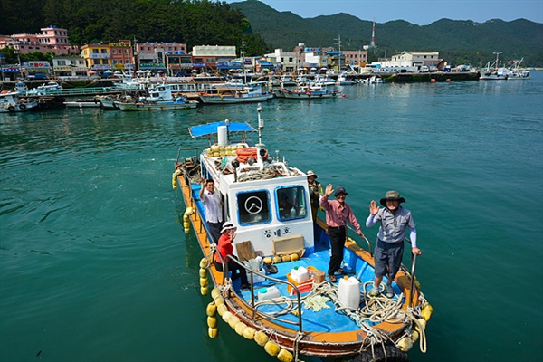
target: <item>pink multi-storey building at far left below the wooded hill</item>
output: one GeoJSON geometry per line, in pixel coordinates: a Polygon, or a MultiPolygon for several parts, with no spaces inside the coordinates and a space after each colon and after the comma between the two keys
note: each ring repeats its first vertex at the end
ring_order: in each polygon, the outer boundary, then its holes
{"type": "Polygon", "coordinates": [[[21,54],[29,52],[54,52],[56,55],[79,54],[77,46],[70,45],[68,31],[50,25],[41,29],[41,33],[0,35],[0,49],[13,48],[21,54]]]}

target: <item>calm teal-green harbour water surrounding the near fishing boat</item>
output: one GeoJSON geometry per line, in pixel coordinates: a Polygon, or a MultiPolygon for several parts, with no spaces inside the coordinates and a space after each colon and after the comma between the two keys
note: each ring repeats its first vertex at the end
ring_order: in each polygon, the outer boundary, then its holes
{"type": "MultiPolygon", "coordinates": [[[[405,197],[433,305],[412,361],[543,353],[543,73],[531,75],[262,102],[271,155],[346,187],[360,224],[372,199],[405,197]]],[[[0,360],[277,361],[222,320],[207,336],[202,253],[171,188],[177,149],[200,144],[188,127],[256,127],[255,109],[0,115],[0,360]]]]}

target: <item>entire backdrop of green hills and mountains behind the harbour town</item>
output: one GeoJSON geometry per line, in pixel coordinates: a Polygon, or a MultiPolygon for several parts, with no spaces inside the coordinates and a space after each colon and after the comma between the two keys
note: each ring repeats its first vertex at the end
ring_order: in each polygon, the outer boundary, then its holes
{"type": "MultiPolygon", "coordinates": [[[[209,0],[0,0],[0,33],[38,33],[54,24],[68,29],[72,44],[117,42],[235,45],[245,43],[247,55],[281,48],[291,51],[298,43],[359,50],[371,41],[372,23],[349,14],[304,19],[278,12],[257,0],[228,5],[209,0]]],[[[371,18],[373,14],[368,14],[371,18]]],[[[519,19],[439,20],[429,25],[405,21],[376,24],[376,52],[369,60],[396,52],[440,52],[452,64],[524,57],[524,64],[543,66],[543,24],[519,19]]]]}

